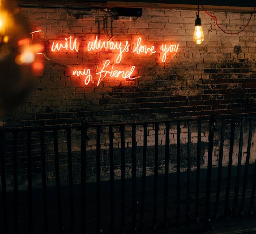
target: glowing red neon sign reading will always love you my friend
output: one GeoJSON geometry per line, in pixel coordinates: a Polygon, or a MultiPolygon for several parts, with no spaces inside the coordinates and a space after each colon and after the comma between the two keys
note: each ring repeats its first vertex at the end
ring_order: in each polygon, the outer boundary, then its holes
{"type": "MultiPolygon", "coordinates": [[[[136,79],[140,76],[135,76],[132,75],[134,70],[135,70],[135,65],[130,65],[128,68],[125,69],[116,69],[116,65],[120,65],[120,63],[123,60],[123,55],[124,53],[133,53],[133,57],[136,55],[153,55],[159,53],[159,56],[162,57],[162,62],[165,63],[167,57],[171,56],[169,60],[171,60],[177,53],[179,44],[162,44],[162,45],[157,45],[158,50],[156,49],[155,45],[146,45],[142,43],[142,38],[139,37],[137,41],[133,41],[133,44],[129,41],[112,41],[113,38],[109,40],[99,40],[98,36],[95,37],[94,40],[89,41],[87,43],[87,46],[85,47],[88,52],[103,52],[105,51],[106,53],[113,53],[117,54],[117,57],[114,58],[113,62],[110,62],[110,59],[106,58],[105,61],[101,62],[103,63],[102,68],[100,71],[94,73],[98,78],[97,86],[100,84],[101,81],[103,81],[104,78],[107,76],[110,78],[123,78],[123,79],[129,79],[133,80],[136,79]],[[131,46],[132,44],[132,46],[131,46]]],[[[72,38],[72,36],[68,38],[64,38],[64,42],[53,42],[51,46],[51,51],[52,52],[58,52],[58,51],[71,51],[71,52],[77,52],[78,53],[78,42],[77,38],[72,38]]],[[[119,66],[120,67],[120,66],[119,66]]],[[[97,67],[98,68],[98,67],[97,67]]],[[[93,83],[93,75],[91,69],[73,69],[72,72],[73,76],[80,77],[80,76],[85,76],[84,83],[85,85],[88,85],[90,81],[93,83]]]]}

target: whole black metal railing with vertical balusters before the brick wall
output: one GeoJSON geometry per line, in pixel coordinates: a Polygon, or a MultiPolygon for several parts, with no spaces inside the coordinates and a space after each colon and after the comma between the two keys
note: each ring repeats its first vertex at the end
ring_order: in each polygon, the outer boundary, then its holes
{"type": "MultiPolygon", "coordinates": [[[[248,210],[245,210],[245,198],[247,192],[247,178],[248,178],[248,170],[249,170],[249,159],[250,159],[250,152],[251,152],[251,144],[252,144],[252,133],[254,127],[254,118],[239,118],[239,126],[240,126],[240,135],[239,135],[239,150],[238,150],[238,163],[237,163],[237,172],[236,172],[236,186],[234,191],[234,199],[233,199],[233,207],[229,207],[229,199],[230,199],[230,182],[231,182],[231,169],[232,169],[232,158],[233,158],[233,151],[234,151],[234,138],[235,138],[235,118],[222,118],[218,121],[221,121],[221,136],[219,141],[219,155],[218,155],[218,175],[217,175],[217,189],[215,194],[215,205],[214,210],[211,210],[211,183],[212,183],[212,158],[213,158],[213,147],[214,147],[214,132],[215,132],[215,123],[217,121],[216,116],[210,116],[209,120],[209,140],[208,140],[208,157],[207,157],[207,176],[206,176],[206,190],[205,190],[205,203],[204,203],[204,228],[203,231],[212,230],[210,220],[211,215],[215,220],[219,219],[219,199],[220,199],[220,191],[221,191],[221,181],[223,178],[222,175],[222,162],[223,162],[223,148],[224,148],[224,139],[225,139],[225,127],[228,121],[231,121],[231,131],[230,131],[230,146],[229,146],[229,160],[228,160],[228,172],[227,172],[227,184],[226,184],[226,192],[225,192],[225,206],[224,206],[224,218],[230,219],[231,215],[234,216],[243,216],[247,213],[248,210]],[[242,164],[242,148],[243,148],[243,140],[244,140],[244,124],[245,121],[249,124],[249,133],[248,133],[248,140],[247,140],[247,153],[244,165],[244,173],[243,173],[243,188],[242,188],[242,195],[241,195],[241,202],[238,205],[239,201],[239,188],[240,188],[240,180],[241,176],[241,164],[242,164]],[[211,213],[212,212],[212,213],[211,213]]],[[[175,225],[179,227],[181,225],[180,222],[180,196],[181,196],[181,123],[186,123],[186,132],[187,132],[187,145],[186,145],[186,161],[187,161],[187,168],[186,168],[186,226],[190,226],[190,222],[192,220],[191,217],[191,122],[197,123],[197,149],[196,149],[196,191],[195,191],[195,212],[193,220],[195,223],[199,223],[201,221],[199,213],[199,191],[200,191],[200,171],[201,171],[201,123],[202,121],[206,121],[206,119],[194,119],[194,120],[182,120],[182,121],[168,121],[168,122],[152,122],[152,123],[134,123],[134,124],[121,124],[121,125],[87,125],[83,123],[79,128],[81,131],[80,140],[81,140],[81,158],[80,158],[80,222],[77,223],[75,218],[75,209],[76,206],[74,205],[74,183],[73,183],[73,168],[72,168],[72,139],[71,139],[71,131],[74,127],[67,126],[67,127],[48,127],[48,128],[35,128],[35,129],[0,129],[0,163],[1,163],[1,187],[2,187],[2,228],[4,233],[9,233],[9,207],[7,202],[8,191],[6,190],[6,174],[5,174],[5,134],[12,133],[13,137],[13,223],[14,223],[14,233],[20,233],[19,231],[19,204],[18,204],[18,160],[17,160],[17,133],[18,132],[25,132],[26,133],[26,144],[27,144],[27,193],[28,193],[28,226],[27,226],[27,233],[33,233],[33,226],[35,222],[33,220],[33,198],[32,198],[32,154],[31,154],[31,132],[38,131],[40,133],[40,156],[41,156],[41,183],[42,183],[42,207],[43,207],[43,223],[44,223],[44,233],[51,233],[51,227],[48,225],[48,210],[47,210],[47,176],[46,176],[46,155],[45,155],[45,132],[51,131],[53,134],[53,145],[54,145],[54,166],[55,166],[55,188],[57,194],[57,216],[58,216],[58,230],[59,233],[64,233],[64,226],[65,229],[69,229],[70,233],[74,233],[75,231],[81,233],[88,233],[87,227],[88,223],[86,222],[87,215],[88,215],[88,206],[86,205],[86,158],[87,158],[87,131],[89,128],[96,129],[96,181],[94,182],[96,185],[96,233],[102,233],[103,230],[101,229],[101,175],[100,175],[100,159],[101,159],[101,143],[100,143],[100,136],[101,136],[101,129],[103,127],[107,127],[109,129],[109,160],[110,160],[110,229],[108,230],[110,233],[114,233],[117,229],[116,226],[116,215],[115,215],[115,179],[114,179],[114,147],[113,147],[113,127],[119,126],[120,127],[120,232],[125,233],[125,223],[126,223],[126,192],[125,192],[125,126],[131,126],[131,160],[132,160],[132,191],[131,191],[131,227],[129,227],[130,231],[136,232],[138,227],[141,232],[146,232],[148,228],[148,220],[145,220],[145,198],[146,194],[146,168],[147,168],[147,129],[149,125],[153,125],[155,129],[155,139],[154,139],[154,168],[153,168],[153,202],[152,202],[152,223],[151,227],[156,230],[158,227],[157,220],[160,218],[163,219],[163,228],[168,229],[168,195],[169,195],[169,188],[168,185],[170,184],[169,181],[169,136],[170,136],[170,123],[176,124],[176,134],[177,134],[177,170],[176,170],[176,220],[175,225]],[[163,190],[163,215],[158,217],[158,161],[159,161],[159,125],[165,125],[165,165],[164,165],[164,190],[163,190]],[[143,126],[143,157],[142,157],[142,174],[141,174],[141,190],[140,190],[140,199],[137,199],[136,188],[136,126],[142,125],[143,126]],[[68,191],[69,191],[69,203],[70,208],[68,214],[70,215],[70,227],[66,227],[65,222],[63,221],[63,206],[61,202],[61,183],[60,183],[60,169],[59,169],[59,152],[58,152],[58,131],[66,131],[66,143],[67,143],[67,159],[68,159],[68,191]],[[140,208],[138,208],[138,204],[140,208]],[[139,213],[139,222],[137,222],[137,213],[139,213]]],[[[77,127],[76,127],[77,128],[77,127]]],[[[254,176],[251,188],[251,199],[249,204],[249,214],[253,215],[253,208],[254,208],[254,199],[255,199],[255,187],[256,187],[256,164],[254,166],[254,176]]],[[[107,231],[107,230],[104,230],[107,231]]],[[[94,230],[95,232],[95,230],[94,230]]]]}

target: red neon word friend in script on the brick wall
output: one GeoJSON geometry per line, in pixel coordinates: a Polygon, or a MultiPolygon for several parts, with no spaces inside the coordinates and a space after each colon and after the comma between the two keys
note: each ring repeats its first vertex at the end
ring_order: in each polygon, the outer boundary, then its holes
{"type": "Polygon", "coordinates": [[[105,69],[106,69],[106,67],[109,66],[109,64],[110,64],[110,61],[107,59],[107,60],[105,61],[104,65],[103,65],[103,68],[101,69],[101,71],[96,73],[96,74],[99,74],[99,80],[98,80],[97,86],[99,85],[99,83],[100,83],[107,75],[109,75],[110,77],[116,77],[116,78],[122,75],[122,77],[123,77],[124,79],[127,79],[127,78],[129,78],[130,80],[135,79],[135,78],[131,78],[131,75],[132,75],[132,73],[133,73],[133,71],[134,71],[134,69],[135,69],[135,66],[132,66],[132,67],[131,67],[131,70],[130,70],[130,71],[126,71],[126,72],[123,71],[123,70],[115,70],[115,69],[114,69],[114,66],[112,66],[111,71],[107,71],[107,70],[105,70],[105,69]]]}

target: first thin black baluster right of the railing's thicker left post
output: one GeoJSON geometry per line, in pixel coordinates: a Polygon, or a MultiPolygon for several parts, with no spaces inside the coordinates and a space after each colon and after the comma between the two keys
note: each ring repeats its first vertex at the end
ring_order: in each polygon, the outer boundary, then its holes
{"type": "Polygon", "coordinates": [[[100,125],[96,132],[96,234],[102,232],[100,228],[100,125]]]}

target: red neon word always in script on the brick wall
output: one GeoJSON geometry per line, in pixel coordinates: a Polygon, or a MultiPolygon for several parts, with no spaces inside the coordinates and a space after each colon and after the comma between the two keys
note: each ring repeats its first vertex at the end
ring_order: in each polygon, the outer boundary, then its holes
{"type": "Polygon", "coordinates": [[[117,50],[119,51],[118,57],[116,59],[116,63],[120,63],[122,60],[122,54],[124,52],[128,52],[129,51],[129,42],[125,41],[125,45],[122,47],[122,42],[113,42],[113,41],[101,41],[98,40],[98,36],[96,36],[94,41],[90,41],[88,43],[87,49],[88,51],[94,51],[94,50],[98,50],[98,49],[110,49],[112,50],[117,50]]]}

